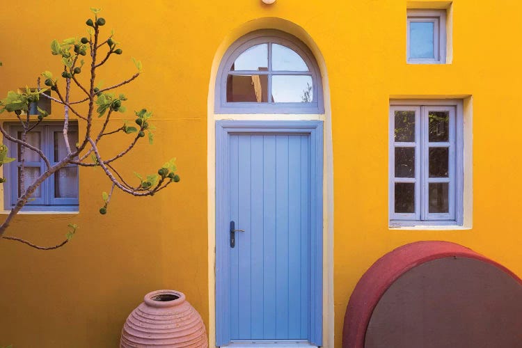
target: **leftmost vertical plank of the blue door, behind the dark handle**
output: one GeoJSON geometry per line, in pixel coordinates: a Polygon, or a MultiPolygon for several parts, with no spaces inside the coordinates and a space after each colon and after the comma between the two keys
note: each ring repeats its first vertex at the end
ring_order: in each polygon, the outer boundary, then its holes
{"type": "MultiPolygon", "coordinates": [[[[237,220],[239,217],[239,191],[238,191],[238,178],[239,178],[239,157],[238,157],[238,144],[239,136],[230,136],[230,183],[228,189],[230,191],[230,220],[235,221],[237,226],[237,220]]],[[[237,237],[237,236],[236,236],[237,237]]],[[[236,241],[237,242],[237,241],[236,241]]],[[[238,253],[237,245],[235,248],[230,248],[230,337],[235,339],[239,335],[239,279],[238,279],[238,253]]]]}

